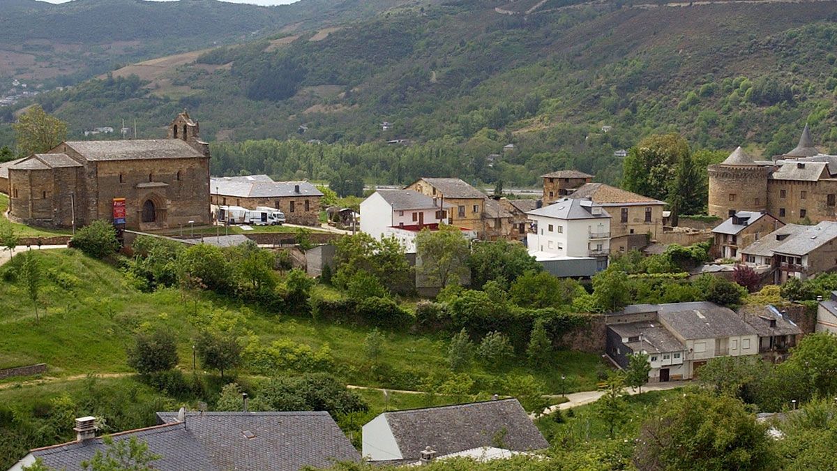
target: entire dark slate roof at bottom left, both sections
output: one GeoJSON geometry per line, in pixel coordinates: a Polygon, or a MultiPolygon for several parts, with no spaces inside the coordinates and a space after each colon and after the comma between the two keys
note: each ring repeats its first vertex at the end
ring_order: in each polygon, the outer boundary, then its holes
{"type": "MultiPolygon", "coordinates": [[[[177,422],[177,412],[157,412],[157,420],[163,425],[112,437],[136,437],[148,443],[151,453],[162,455],[152,463],[162,471],[297,471],[306,466],[326,468],[334,460],[360,461],[360,454],[327,412],[187,412],[185,423],[177,422]]],[[[31,453],[51,468],[74,470],[104,448],[101,437],[96,437],[31,453]]]]}

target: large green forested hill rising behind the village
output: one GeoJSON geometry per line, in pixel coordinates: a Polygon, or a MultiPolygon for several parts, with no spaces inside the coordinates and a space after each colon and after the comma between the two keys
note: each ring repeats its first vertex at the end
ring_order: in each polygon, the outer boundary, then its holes
{"type": "Polygon", "coordinates": [[[136,116],[157,135],[187,107],[209,140],[296,137],[344,149],[302,146],[304,158],[285,158],[278,144],[215,144],[218,173],[328,178],[332,161],[317,171],[310,156],[340,154],[354,175],[405,183],[413,174],[401,155],[411,153],[469,181],[533,184],[570,167],[613,181],[614,151],[654,132],[773,155],[809,122],[820,146],[835,147],[835,18],[834,2],[422,3],[213,50],[172,71],[181,85],[172,91],[116,80],[42,102],[73,132],[136,116]],[[381,144],[373,165],[347,146],[393,139],[411,150],[381,144]],[[490,154],[501,157],[490,164],[490,154]]]}

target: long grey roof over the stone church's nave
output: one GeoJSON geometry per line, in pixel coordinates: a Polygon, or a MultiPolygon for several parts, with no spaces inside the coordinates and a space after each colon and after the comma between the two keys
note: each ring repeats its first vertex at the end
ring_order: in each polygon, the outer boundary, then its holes
{"type": "Polygon", "coordinates": [[[90,161],[206,157],[180,139],[69,141],[64,144],[90,161]]]}

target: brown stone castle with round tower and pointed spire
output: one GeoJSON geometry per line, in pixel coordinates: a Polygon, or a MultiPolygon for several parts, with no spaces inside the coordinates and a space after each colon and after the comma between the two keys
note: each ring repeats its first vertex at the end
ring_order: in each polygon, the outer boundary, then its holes
{"type": "Polygon", "coordinates": [[[834,220],[837,156],[820,153],[807,126],[786,154],[755,160],[737,148],[708,173],[710,215],[726,219],[746,210],[767,212],[785,224],[834,220]]]}

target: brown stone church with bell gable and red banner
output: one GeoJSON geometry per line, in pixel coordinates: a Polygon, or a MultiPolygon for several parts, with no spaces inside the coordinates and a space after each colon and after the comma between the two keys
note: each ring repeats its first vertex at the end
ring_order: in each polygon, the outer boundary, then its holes
{"type": "Polygon", "coordinates": [[[210,224],[209,148],[199,132],[183,111],[167,139],[68,141],[15,161],[5,169],[9,219],[61,228],[108,220],[133,230],[210,224]]]}

